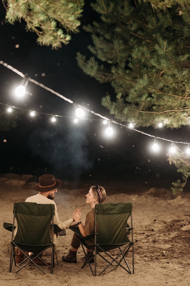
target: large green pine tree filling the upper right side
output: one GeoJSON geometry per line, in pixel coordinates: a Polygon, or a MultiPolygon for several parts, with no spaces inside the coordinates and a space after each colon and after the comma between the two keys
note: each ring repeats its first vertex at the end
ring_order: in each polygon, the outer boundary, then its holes
{"type": "MultiPolygon", "coordinates": [[[[91,6],[100,21],[85,26],[93,57],[77,54],[83,72],[110,83],[116,100],[102,105],[119,121],[136,126],[168,128],[189,124],[190,118],[190,1],[96,0],[91,6]]],[[[179,194],[190,175],[190,159],[177,150],[167,154],[183,174],[173,183],[179,194]]]]}

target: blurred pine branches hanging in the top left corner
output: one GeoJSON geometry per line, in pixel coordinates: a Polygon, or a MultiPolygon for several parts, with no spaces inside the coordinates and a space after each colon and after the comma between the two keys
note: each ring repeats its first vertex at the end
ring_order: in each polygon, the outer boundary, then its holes
{"type": "Polygon", "coordinates": [[[68,44],[70,32],[77,33],[84,0],[2,0],[6,21],[13,24],[23,19],[26,30],[36,32],[37,43],[60,48],[68,44]]]}

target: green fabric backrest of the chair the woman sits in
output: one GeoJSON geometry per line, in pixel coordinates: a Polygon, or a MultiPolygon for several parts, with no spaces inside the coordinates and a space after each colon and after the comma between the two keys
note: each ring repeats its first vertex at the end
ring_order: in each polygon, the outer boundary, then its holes
{"type": "Polygon", "coordinates": [[[122,245],[129,242],[126,235],[127,220],[132,202],[106,202],[95,205],[95,243],[122,245]]]}

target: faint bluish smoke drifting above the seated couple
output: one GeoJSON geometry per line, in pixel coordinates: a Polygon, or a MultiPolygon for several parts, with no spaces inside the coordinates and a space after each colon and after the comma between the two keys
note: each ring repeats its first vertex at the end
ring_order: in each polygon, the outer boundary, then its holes
{"type": "Polygon", "coordinates": [[[61,178],[80,178],[93,167],[87,130],[76,126],[68,130],[38,128],[30,135],[28,145],[32,159],[36,162],[43,160],[44,164],[49,165],[48,170],[52,169],[52,172],[61,178]]]}

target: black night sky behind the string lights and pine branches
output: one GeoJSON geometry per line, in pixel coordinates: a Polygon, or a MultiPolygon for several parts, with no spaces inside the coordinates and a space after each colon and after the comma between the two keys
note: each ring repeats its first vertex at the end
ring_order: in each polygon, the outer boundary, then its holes
{"type": "MultiPolygon", "coordinates": [[[[82,25],[92,23],[97,18],[85,1],[82,25]]],[[[101,106],[101,98],[107,93],[114,99],[114,90],[109,84],[100,84],[83,74],[75,60],[80,51],[91,56],[87,46],[91,44],[89,33],[80,29],[72,34],[69,45],[59,50],[41,47],[36,43],[36,34],[25,31],[24,22],[15,25],[5,23],[5,9],[0,2],[1,46],[0,60],[15,67],[23,74],[52,88],[56,92],[100,113],[113,118],[101,106]],[[19,45],[19,47],[18,47],[19,45]],[[45,76],[42,76],[42,74],[45,76]]],[[[0,102],[36,112],[75,117],[75,109],[58,96],[33,83],[28,83],[28,94],[17,98],[14,89],[22,78],[0,65],[0,102]]],[[[7,107],[0,105],[0,110],[7,107]]],[[[154,138],[139,134],[127,128],[113,125],[113,136],[105,135],[106,126],[99,117],[89,112],[85,118],[98,120],[79,120],[57,118],[38,114],[31,118],[29,112],[13,110],[7,116],[15,118],[17,127],[0,133],[1,169],[0,173],[54,174],[64,180],[84,180],[90,178],[162,180],[168,176],[177,180],[179,174],[167,162],[166,153],[170,142],[158,140],[160,151],[152,150],[154,138]],[[6,142],[3,142],[3,140],[6,142]]],[[[126,123],[124,123],[126,124],[126,123]]],[[[170,140],[189,141],[189,126],[178,130],[166,128],[138,128],[146,133],[170,140]]],[[[181,146],[185,148],[186,145],[181,146]]],[[[99,183],[101,184],[101,183],[99,183]]]]}

